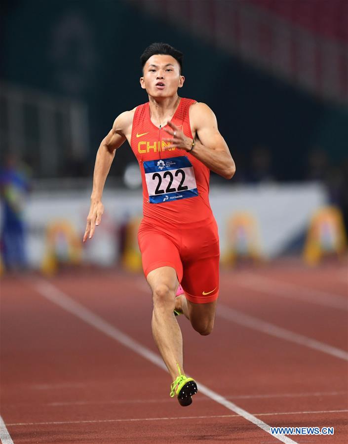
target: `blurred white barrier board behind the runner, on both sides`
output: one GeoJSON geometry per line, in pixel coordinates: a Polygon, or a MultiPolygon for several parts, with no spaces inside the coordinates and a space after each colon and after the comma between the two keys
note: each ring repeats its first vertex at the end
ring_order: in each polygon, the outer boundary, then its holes
{"type": "MultiPolygon", "coordinates": [[[[27,253],[32,266],[41,263],[49,223],[69,220],[82,238],[89,210],[88,193],[31,196],[25,215],[29,227],[27,253]]],[[[306,229],[314,211],[326,200],[325,190],[317,184],[212,187],[210,204],[219,226],[221,253],[226,250],[226,225],[233,213],[247,211],[255,216],[262,253],[272,258],[306,229]]],[[[102,223],[93,240],[86,242],[83,258],[90,263],[111,265],[118,254],[119,224],[129,216],[142,214],[142,192],[106,190],[103,203],[102,223]]]]}

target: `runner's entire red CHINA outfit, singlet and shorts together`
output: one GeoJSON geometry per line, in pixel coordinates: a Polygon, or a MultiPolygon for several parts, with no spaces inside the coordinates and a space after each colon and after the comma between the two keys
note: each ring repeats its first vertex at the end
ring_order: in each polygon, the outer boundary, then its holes
{"type": "MultiPolygon", "coordinates": [[[[193,103],[181,98],[171,120],[191,139],[193,103]]],[[[211,302],[218,297],[219,239],[209,204],[210,171],[187,151],[166,144],[166,138],[169,134],[150,119],[149,102],[139,105],[131,148],[143,185],[144,218],[138,240],[144,273],[171,266],[188,299],[211,302]]]]}

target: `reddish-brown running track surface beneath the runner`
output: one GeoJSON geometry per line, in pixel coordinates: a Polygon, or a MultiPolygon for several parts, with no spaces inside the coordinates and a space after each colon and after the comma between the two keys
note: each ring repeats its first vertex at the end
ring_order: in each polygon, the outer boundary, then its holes
{"type": "Polygon", "coordinates": [[[334,427],[333,436],[288,442],[347,443],[344,267],[224,271],[214,332],[200,336],[179,318],[186,372],[242,416],[202,390],[181,407],[169,398],[169,375],[109,334],[157,355],[142,276],[78,272],[46,282],[2,280],[2,443],[281,442],[260,424],[334,427]]]}

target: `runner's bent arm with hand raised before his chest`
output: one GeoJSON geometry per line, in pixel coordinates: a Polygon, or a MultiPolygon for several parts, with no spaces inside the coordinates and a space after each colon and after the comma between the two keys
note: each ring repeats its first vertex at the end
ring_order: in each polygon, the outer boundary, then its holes
{"type": "Polygon", "coordinates": [[[172,122],[168,122],[168,125],[173,131],[167,132],[173,138],[167,140],[177,148],[190,151],[195,158],[215,173],[225,179],[231,179],[235,173],[235,164],[229,147],[218,130],[215,114],[205,103],[195,103],[190,109],[190,121],[196,130],[192,151],[190,150],[193,140],[185,136],[172,122]]]}

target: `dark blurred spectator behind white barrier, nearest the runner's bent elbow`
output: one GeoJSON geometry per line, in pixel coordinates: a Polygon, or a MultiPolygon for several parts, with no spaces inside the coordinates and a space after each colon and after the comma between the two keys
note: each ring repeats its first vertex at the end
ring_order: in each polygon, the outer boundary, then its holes
{"type": "Polygon", "coordinates": [[[271,151],[268,148],[260,146],[253,149],[246,179],[252,183],[275,181],[275,175],[272,170],[271,151]]]}

